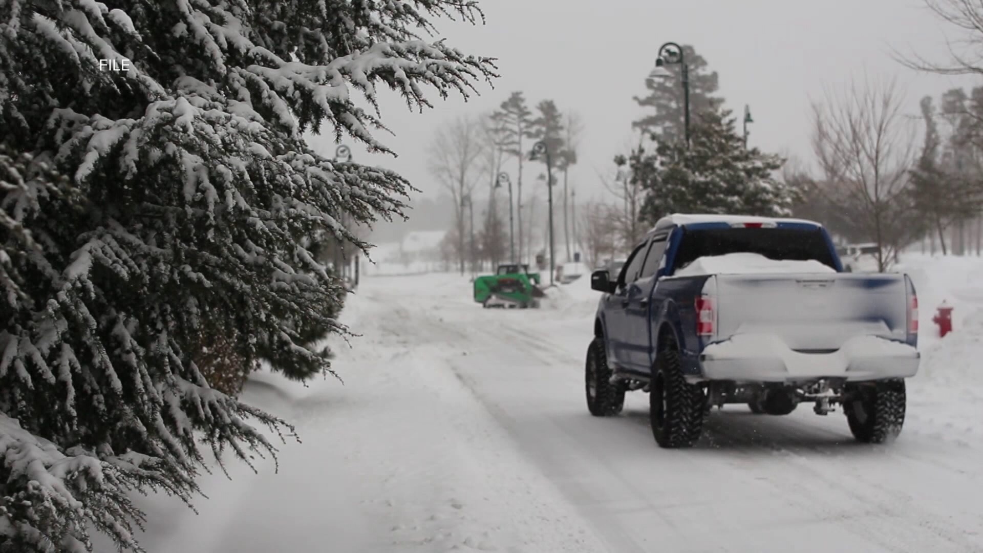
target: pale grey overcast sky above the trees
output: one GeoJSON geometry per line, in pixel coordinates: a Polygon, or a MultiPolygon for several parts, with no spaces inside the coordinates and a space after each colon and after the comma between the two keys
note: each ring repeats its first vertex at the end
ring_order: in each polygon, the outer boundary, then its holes
{"type": "MultiPolygon", "coordinates": [[[[523,91],[531,106],[549,98],[581,114],[581,162],[571,178],[578,197],[599,194],[595,168],[611,170],[611,157],[623,151],[631,121],[642,113],[632,96],[645,92],[644,79],[668,40],[692,44],[720,74],[726,107],[739,113],[750,104],[752,146],[804,160],[812,156],[810,97],[819,98],[824,86],[841,87],[864,71],[896,76],[915,115],[925,94],[980,84],[913,72],[892,58],[896,48],[946,59],[946,35],[954,34],[921,0],[485,0],[481,6],[485,26],[444,21],[438,30],[466,53],[498,58],[494,89],[482,85],[482,95],[467,103],[459,96],[439,101],[432,93],[436,108],[423,114],[390,93],[382,118],[396,136],[377,138],[399,156],[370,156],[353,145],[359,161],[397,170],[428,196],[438,194],[427,170],[434,130],[523,91]]],[[[329,139],[312,142],[333,151],[329,139]]]]}

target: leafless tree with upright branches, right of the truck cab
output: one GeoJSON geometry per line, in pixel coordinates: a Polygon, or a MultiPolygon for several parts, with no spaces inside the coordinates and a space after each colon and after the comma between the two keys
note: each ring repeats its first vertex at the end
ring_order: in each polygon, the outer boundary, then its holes
{"type": "Polygon", "coordinates": [[[823,193],[880,246],[885,271],[899,248],[923,232],[909,192],[914,127],[901,114],[895,80],[853,81],[813,103],[813,149],[826,180],[823,193]]]}

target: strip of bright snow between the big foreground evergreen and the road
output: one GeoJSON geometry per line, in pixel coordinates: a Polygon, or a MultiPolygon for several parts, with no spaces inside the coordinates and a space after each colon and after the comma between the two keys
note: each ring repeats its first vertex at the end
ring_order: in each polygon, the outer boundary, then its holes
{"type": "Polygon", "coordinates": [[[208,478],[198,517],[155,499],[147,550],[606,550],[454,376],[447,359],[467,339],[407,335],[411,316],[350,297],[343,320],[363,337],[338,347],[344,385],[254,379],[245,399],[297,424],[303,444],[282,448],[278,474],[262,462],[208,478]]]}

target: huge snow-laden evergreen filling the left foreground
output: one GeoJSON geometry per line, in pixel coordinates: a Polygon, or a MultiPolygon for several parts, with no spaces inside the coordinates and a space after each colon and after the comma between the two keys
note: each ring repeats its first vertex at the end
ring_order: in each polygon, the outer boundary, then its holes
{"type": "Polygon", "coordinates": [[[254,425],[289,426],[210,388],[195,348],[330,371],[315,338],[346,331],[344,289],[304,237],[367,247],[340,215],[400,215],[410,185],[302,134],[389,152],[356,92],[422,109],[426,85],[491,78],[491,60],[415,34],[442,17],[482,16],[467,0],[0,0],[0,551],[90,550],[89,528],[140,550],[128,493],[190,502],[205,450],[275,452],[254,425]]]}

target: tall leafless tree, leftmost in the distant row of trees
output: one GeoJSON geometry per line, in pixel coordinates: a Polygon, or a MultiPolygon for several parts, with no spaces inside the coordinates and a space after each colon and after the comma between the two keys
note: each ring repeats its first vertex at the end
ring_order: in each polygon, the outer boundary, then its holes
{"type": "MultiPolygon", "coordinates": [[[[481,177],[479,160],[485,151],[481,125],[474,118],[461,116],[437,131],[430,149],[430,171],[454,202],[454,231],[457,257],[464,275],[465,236],[469,234],[466,205],[481,177]],[[467,199],[467,200],[465,200],[467,199]]],[[[474,247],[474,244],[471,244],[474,247]]]]}

